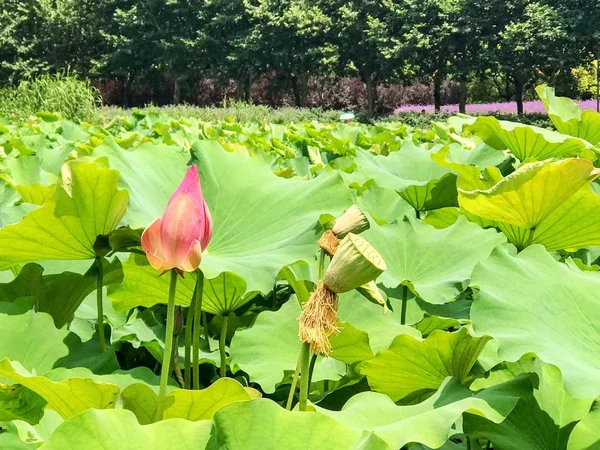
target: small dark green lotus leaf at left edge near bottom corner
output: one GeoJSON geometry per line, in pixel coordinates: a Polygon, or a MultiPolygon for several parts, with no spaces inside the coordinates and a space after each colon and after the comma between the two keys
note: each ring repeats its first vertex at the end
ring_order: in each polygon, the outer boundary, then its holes
{"type": "Polygon", "coordinates": [[[36,424],[44,416],[46,400],[20,385],[0,384],[0,422],[24,420],[36,424]]]}

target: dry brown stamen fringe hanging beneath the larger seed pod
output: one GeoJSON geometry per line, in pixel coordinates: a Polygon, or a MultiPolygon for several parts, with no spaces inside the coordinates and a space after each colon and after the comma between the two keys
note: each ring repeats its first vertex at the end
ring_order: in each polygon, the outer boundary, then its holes
{"type": "Polygon", "coordinates": [[[339,333],[337,327],[338,298],[325,283],[320,282],[310,298],[302,305],[298,321],[298,337],[310,344],[317,355],[328,355],[331,351],[329,336],[339,333]]]}

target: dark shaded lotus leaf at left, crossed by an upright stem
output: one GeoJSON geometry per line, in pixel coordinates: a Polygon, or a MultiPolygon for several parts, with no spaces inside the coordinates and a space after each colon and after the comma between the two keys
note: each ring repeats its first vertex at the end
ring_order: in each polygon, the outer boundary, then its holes
{"type": "MultiPolygon", "coordinates": [[[[103,285],[120,283],[123,271],[120,261],[102,261],[103,285]]],[[[33,297],[38,311],[48,313],[57,328],[73,318],[83,300],[97,288],[97,268],[92,267],[84,274],[62,272],[43,275],[44,269],[34,263],[25,265],[12,282],[0,284],[0,301],[14,301],[20,297],[33,297]]]]}

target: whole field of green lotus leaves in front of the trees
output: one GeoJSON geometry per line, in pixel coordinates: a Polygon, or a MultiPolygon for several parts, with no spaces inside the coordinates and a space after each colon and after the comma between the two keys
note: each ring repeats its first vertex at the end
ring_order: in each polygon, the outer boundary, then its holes
{"type": "Polygon", "coordinates": [[[538,93],[555,131],[0,120],[0,449],[599,449],[600,114],[538,93]]]}

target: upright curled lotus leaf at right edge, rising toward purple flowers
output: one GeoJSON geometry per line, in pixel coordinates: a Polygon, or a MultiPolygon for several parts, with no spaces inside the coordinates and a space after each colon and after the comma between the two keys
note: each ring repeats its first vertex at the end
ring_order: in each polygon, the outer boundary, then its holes
{"type": "Polygon", "coordinates": [[[582,111],[573,100],[557,97],[554,88],[546,85],[538,86],[535,90],[558,131],[585,139],[593,145],[600,143],[600,114],[582,111]]]}

